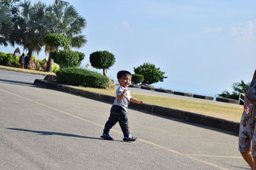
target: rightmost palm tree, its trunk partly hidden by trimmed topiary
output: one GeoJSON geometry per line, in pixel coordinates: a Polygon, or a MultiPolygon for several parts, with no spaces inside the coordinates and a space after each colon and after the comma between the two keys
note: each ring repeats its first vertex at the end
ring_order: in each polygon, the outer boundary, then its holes
{"type": "MultiPolygon", "coordinates": [[[[87,42],[85,36],[80,35],[86,26],[86,19],[79,16],[74,6],[56,0],[47,8],[47,28],[49,33],[58,33],[67,36],[72,40],[72,47],[80,48],[87,42]]],[[[45,51],[52,50],[49,46],[45,51]]],[[[49,56],[46,71],[51,71],[52,59],[49,56]]]]}

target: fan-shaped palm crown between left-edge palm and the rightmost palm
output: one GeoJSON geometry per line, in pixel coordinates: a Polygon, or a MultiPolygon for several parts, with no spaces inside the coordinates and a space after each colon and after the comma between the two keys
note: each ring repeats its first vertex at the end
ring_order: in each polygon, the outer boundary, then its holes
{"type": "Polygon", "coordinates": [[[13,32],[9,41],[12,45],[22,45],[25,50],[28,50],[29,57],[33,52],[39,53],[43,46],[45,28],[41,27],[44,17],[40,16],[42,15],[40,12],[45,8],[45,4],[41,2],[31,6],[30,1],[24,1],[19,6],[12,7],[13,32]]]}

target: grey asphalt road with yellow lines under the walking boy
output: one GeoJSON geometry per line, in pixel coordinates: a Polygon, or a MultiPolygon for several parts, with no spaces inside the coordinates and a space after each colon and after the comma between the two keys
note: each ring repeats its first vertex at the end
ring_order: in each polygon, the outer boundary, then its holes
{"type": "Polygon", "coordinates": [[[249,169],[237,136],[129,110],[138,140],[100,139],[111,104],[35,87],[35,76],[0,71],[0,169],[249,169]]]}

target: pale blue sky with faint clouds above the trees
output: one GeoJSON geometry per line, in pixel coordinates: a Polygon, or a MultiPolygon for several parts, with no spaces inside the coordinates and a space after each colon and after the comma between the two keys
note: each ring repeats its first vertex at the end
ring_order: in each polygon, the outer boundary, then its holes
{"type": "MultiPolygon", "coordinates": [[[[73,49],[108,50],[116,58],[108,70],[134,73],[144,62],[165,72],[156,88],[216,96],[233,83],[252,80],[256,63],[256,1],[238,0],[66,0],[86,18],[88,42],[73,49]]],[[[36,0],[31,2],[35,3],[36,0]]],[[[54,0],[42,0],[45,4],[54,0]]],[[[0,46],[1,52],[13,52],[0,46]]],[[[44,50],[38,58],[44,59],[44,50]]],[[[93,71],[102,73],[100,69],[93,71]]]]}

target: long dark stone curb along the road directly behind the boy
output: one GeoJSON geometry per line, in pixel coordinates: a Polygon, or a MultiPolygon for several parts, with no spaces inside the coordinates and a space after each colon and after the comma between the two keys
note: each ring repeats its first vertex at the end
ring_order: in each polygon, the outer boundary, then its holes
{"type": "MultiPolygon", "coordinates": [[[[115,97],[113,96],[76,89],[74,87],[69,87],[67,85],[53,83],[51,81],[36,79],[34,81],[34,84],[40,87],[47,87],[54,90],[60,90],[63,92],[68,92],[70,94],[75,94],[77,96],[83,96],[86,98],[95,99],[97,101],[103,101],[107,103],[113,103],[115,99],[115,97]]],[[[200,115],[198,113],[192,113],[189,111],[175,110],[172,108],[166,108],[163,106],[157,106],[153,104],[136,104],[136,103],[130,103],[129,108],[148,111],[150,113],[155,113],[156,115],[163,115],[166,117],[177,118],[180,120],[184,120],[186,122],[191,122],[193,124],[206,125],[208,127],[214,127],[216,129],[234,132],[236,134],[238,134],[239,132],[239,123],[237,122],[232,122],[232,121],[224,120],[221,118],[214,118],[214,117],[209,117],[205,115],[200,115]]]]}

